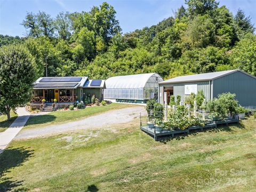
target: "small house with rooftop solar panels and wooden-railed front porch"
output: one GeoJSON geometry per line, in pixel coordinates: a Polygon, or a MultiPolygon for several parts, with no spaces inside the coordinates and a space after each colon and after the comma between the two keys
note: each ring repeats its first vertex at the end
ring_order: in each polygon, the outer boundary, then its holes
{"type": "Polygon", "coordinates": [[[38,105],[45,99],[52,103],[70,105],[76,101],[84,101],[85,97],[95,95],[103,100],[105,80],[89,80],[88,77],[40,77],[34,83],[32,105],[38,105]]]}

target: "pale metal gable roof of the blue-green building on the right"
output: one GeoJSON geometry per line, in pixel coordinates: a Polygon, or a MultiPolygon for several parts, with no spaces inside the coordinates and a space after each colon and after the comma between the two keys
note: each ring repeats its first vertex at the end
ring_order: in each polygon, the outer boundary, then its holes
{"type": "Polygon", "coordinates": [[[182,82],[198,82],[198,81],[211,81],[217,78],[220,78],[222,76],[229,75],[231,73],[235,73],[237,71],[241,71],[242,73],[249,75],[253,78],[256,78],[250,74],[245,73],[242,70],[235,69],[235,70],[226,70],[226,71],[218,71],[213,73],[205,73],[205,74],[196,74],[196,75],[186,75],[186,76],[179,76],[174,77],[171,79],[168,79],[166,81],[163,81],[159,84],[165,84],[165,83],[182,83],[182,82]]]}

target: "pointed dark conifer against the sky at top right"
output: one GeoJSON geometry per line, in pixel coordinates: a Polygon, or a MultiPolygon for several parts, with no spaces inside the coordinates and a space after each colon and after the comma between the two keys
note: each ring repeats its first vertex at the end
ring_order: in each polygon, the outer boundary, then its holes
{"type": "Polygon", "coordinates": [[[255,28],[251,23],[251,17],[246,17],[241,9],[238,9],[235,16],[235,26],[238,36],[241,38],[247,33],[253,33],[255,28]]]}

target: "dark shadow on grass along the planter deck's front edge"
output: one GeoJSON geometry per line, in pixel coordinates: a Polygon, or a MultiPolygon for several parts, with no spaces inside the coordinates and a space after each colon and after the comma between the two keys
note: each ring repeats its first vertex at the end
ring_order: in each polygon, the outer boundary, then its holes
{"type": "Polygon", "coordinates": [[[232,127],[236,127],[239,129],[245,129],[245,126],[241,123],[237,124],[237,123],[230,123],[228,125],[219,125],[217,126],[217,128],[205,128],[203,129],[203,131],[200,130],[190,130],[189,133],[180,133],[180,134],[174,134],[174,137],[162,137],[159,138],[158,141],[162,142],[164,144],[166,144],[167,142],[171,141],[171,140],[182,140],[182,139],[186,139],[186,137],[189,137],[189,135],[197,135],[199,132],[233,132],[234,130],[232,129],[232,127]]]}

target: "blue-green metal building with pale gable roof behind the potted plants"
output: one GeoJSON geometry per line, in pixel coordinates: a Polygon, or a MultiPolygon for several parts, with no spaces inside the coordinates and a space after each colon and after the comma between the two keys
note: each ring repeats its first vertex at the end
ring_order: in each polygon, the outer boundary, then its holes
{"type": "Polygon", "coordinates": [[[217,98],[221,93],[235,93],[239,104],[256,107],[256,77],[242,70],[179,76],[159,83],[159,102],[169,104],[171,95],[181,96],[203,90],[206,100],[217,98]]]}

